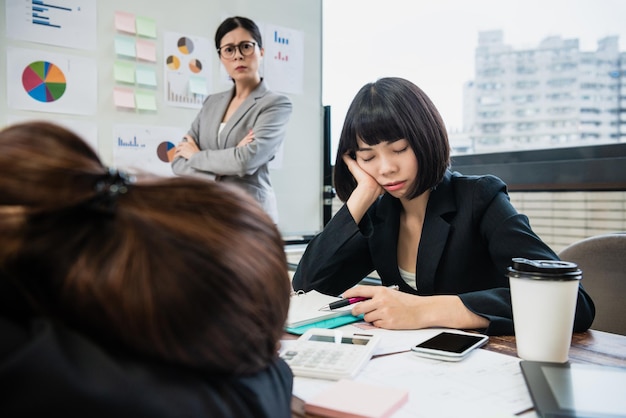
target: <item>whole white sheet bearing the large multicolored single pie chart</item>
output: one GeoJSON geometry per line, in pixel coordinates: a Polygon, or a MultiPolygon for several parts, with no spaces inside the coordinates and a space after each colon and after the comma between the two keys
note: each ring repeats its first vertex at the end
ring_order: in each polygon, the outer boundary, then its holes
{"type": "Polygon", "coordinates": [[[91,115],[97,107],[97,83],[93,59],[7,48],[9,107],[91,115]]]}

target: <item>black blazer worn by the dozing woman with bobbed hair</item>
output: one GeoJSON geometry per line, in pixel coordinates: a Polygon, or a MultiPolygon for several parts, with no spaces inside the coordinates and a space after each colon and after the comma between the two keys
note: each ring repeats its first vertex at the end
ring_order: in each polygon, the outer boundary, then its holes
{"type": "MultiPolygon", "coordinates": [[[[430,194],[416,260],[417,291],[400,277],[397,241],[401,204],[384,194],[357,225],[344,205],[307,246],[293,278],[295,290],[338,295],[376,270],[382,284],[419,295],[459,295],[490,320],[490,335],[512,335],[507,268],[513,257],[558,260],[509,201],[494,176],[448,171],[430,194]]],[[[575,331],[591,326],[595,307],[582,286],[575,331]]]]}

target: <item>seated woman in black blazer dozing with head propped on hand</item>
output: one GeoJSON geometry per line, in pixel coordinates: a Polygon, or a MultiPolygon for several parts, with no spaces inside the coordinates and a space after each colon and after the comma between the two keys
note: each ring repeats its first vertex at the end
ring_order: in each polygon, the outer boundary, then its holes
{"type": "MultiPolygon", "coordinates": [[[[371,298],[352,313],[381,328],[512,335],[511,259],[558,257],[500,179],[449,166],[443,120],[419,87],[401,78],[365,85],[337,150],[334,182],[345,204],[307,246],[293,288],[371,298]],[[374,270],[384,286],[354,286],[374,270]]],[[[574,330],[594,315],[580,287],[574,330]]]]}

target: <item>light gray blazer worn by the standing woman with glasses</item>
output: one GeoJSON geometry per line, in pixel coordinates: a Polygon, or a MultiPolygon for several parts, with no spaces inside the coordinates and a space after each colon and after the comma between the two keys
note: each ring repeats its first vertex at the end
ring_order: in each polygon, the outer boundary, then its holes
{"type": "Polygon", "coordinates": [[[176,158],[172,161],[172,171],[178,175],[235,184],[255,198],[278,223],[276,195],[268,164],[285,139],[291,101],[270,91],[261,80],[218,136],[220,123],[233,94],[234,87],[206,98],[188,132],[198,143],[200,152],[189,160],[176,158]],[[237,148],[250,129],[254,130],[254,141],[237,148]]]}

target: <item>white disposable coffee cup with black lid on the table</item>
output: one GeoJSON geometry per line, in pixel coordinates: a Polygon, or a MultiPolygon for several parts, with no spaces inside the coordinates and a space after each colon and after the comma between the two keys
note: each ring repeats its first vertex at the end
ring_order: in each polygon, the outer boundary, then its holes
{"type": "Polygon", "coordinates": [[[566,261],[514,258],[508,276],[517,355],[565,363],[582,272],[566,261]]]}

